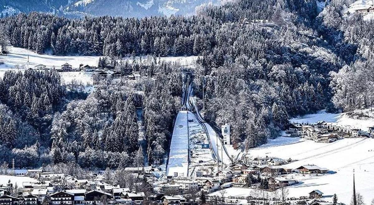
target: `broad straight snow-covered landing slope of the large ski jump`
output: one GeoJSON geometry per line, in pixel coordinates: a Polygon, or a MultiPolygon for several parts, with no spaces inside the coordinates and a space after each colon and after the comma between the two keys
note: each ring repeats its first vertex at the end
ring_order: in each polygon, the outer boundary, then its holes
{"type": "Polygon", "coordinates": [[[188,176],[188,119],[187,111],[179,111],[170,143],[166,176],[188,176]]]}

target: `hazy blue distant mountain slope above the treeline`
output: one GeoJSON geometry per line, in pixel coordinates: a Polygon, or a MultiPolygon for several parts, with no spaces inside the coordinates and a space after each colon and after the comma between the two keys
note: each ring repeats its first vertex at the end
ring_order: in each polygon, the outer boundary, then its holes
{"type": "Polygon", "coordinates": [[[51,12],[68,17],[191,15],[201,4],[220,0],[0,0],[1,16],[20,12],[51,12]]]}

